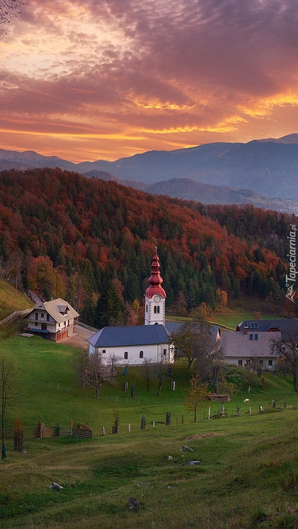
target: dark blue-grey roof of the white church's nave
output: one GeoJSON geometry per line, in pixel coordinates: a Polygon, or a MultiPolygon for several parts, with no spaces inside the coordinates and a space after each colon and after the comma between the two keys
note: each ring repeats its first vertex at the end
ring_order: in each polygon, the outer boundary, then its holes
{"type": "Polygon", "coordinates": [[[94,347],[117,347],[125,345],[151,345],[168,343],[164,325],[134,325],[125,327],[103,327],[87,340],[94,347]]]}

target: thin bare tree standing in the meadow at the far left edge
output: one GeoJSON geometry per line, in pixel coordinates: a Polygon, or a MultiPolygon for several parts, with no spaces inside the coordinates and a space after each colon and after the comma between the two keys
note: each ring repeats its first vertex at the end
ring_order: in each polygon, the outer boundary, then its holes
{"type": "MultiPolygon", "coordinates": [[[[6,427],[6,411],[8,406],[15,404],[19,393],[15,388],[16,369],[14,364],[6,361],[4,358],[0,360],[1,364],[1,435],[2,435],[2,458],[6,459],[5,451],[5,435],[7,435],[6,427]]],[[[9,430],[8,430],[9,431],[9,430]]]]}

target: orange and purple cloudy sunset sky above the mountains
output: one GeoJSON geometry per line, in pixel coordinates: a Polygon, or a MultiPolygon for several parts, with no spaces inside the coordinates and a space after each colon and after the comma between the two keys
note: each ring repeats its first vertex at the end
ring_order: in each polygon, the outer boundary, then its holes
{"type": "Polygon", "coordinates": [[[298,132],[295,0],[26,3],[0,25],[1,149],[116,160],[298,132]]]}

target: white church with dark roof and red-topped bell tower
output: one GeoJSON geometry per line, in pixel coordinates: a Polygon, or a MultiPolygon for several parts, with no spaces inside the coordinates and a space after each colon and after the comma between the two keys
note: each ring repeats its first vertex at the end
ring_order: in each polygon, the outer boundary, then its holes
{"type": "Polygon", "coordinates": [[[162,282],[156,248],[149,287],[145,293],[145,325],[103,327],[87,340],[89,355],[94,352],[106,356],[114,353],[122,358],[122,363],[130,366],[140,366],[144,358],[152,362],[173,363],[174,348],[169,336],[174,329],[173,323],[171,329],[167,328],[167,295],[162,282]]]}

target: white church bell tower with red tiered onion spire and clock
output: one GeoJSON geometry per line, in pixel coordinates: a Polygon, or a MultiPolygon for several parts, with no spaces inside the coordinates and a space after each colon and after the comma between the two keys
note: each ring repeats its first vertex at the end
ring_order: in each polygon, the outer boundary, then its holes
{"type": "Polygon", "coordinates": [[[160,276],[160,265],[157,256],[157,248],[151,265],[151,276],[149,277],[150,287],[145,293],[145,325],[159,323],[165,325],[166,318],[166,293],[161,284],[163,279],[160,276]]]}

